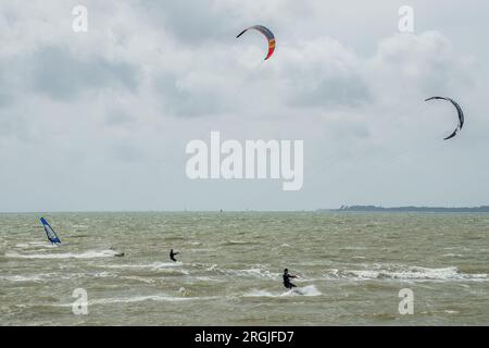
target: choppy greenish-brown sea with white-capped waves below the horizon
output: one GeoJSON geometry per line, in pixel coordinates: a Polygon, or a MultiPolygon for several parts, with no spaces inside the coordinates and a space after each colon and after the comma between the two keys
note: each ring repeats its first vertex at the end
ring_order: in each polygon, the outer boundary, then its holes
{"type": "Polygon", "coordinates": [[[0,214],[1,325],[489,324],[489,214],[47,214],[59,247],[38,217],[0,214]]]}

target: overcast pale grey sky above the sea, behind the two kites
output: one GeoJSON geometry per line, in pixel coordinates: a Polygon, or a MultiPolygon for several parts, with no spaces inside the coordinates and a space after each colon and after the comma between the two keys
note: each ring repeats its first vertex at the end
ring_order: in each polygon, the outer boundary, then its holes
{"type": "Polygon", "coordinates": [[[0,211],[489,204],[487,1],[0,0],[0,211]],[[76,5],[88,32],[72,28],[76,5]],[[414,9],[414,33],[398,10],[414,9]],[[266,44],[243,28],[263,24],[266,44]],[[464,108],[459,137],[443,102],[464,108]],[[304,140],[304,184],[190,181],[192,139],[304,140]]]}

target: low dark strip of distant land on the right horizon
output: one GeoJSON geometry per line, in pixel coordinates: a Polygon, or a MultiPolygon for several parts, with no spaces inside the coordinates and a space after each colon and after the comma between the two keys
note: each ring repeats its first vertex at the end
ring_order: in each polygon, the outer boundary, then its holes
{"type": "Polygon", "coordinates": [[[427,213],[489,213],[489,206],[474,208],[442,208],[442,207],[393,207],[376,206],[341,206],[339,209],[318,209],[318,212],[427,212],[427,213]]]}

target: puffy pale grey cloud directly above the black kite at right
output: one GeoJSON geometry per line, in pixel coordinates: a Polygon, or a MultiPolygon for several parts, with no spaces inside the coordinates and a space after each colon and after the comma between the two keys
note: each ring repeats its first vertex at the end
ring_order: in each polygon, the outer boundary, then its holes
{"type": "Polygon", "coordinates": [[[378,92],[419,97],[457,94],[474,86],[474,66],[437,32],[384,39],[368,62],[371,85],[378,92]]]}

